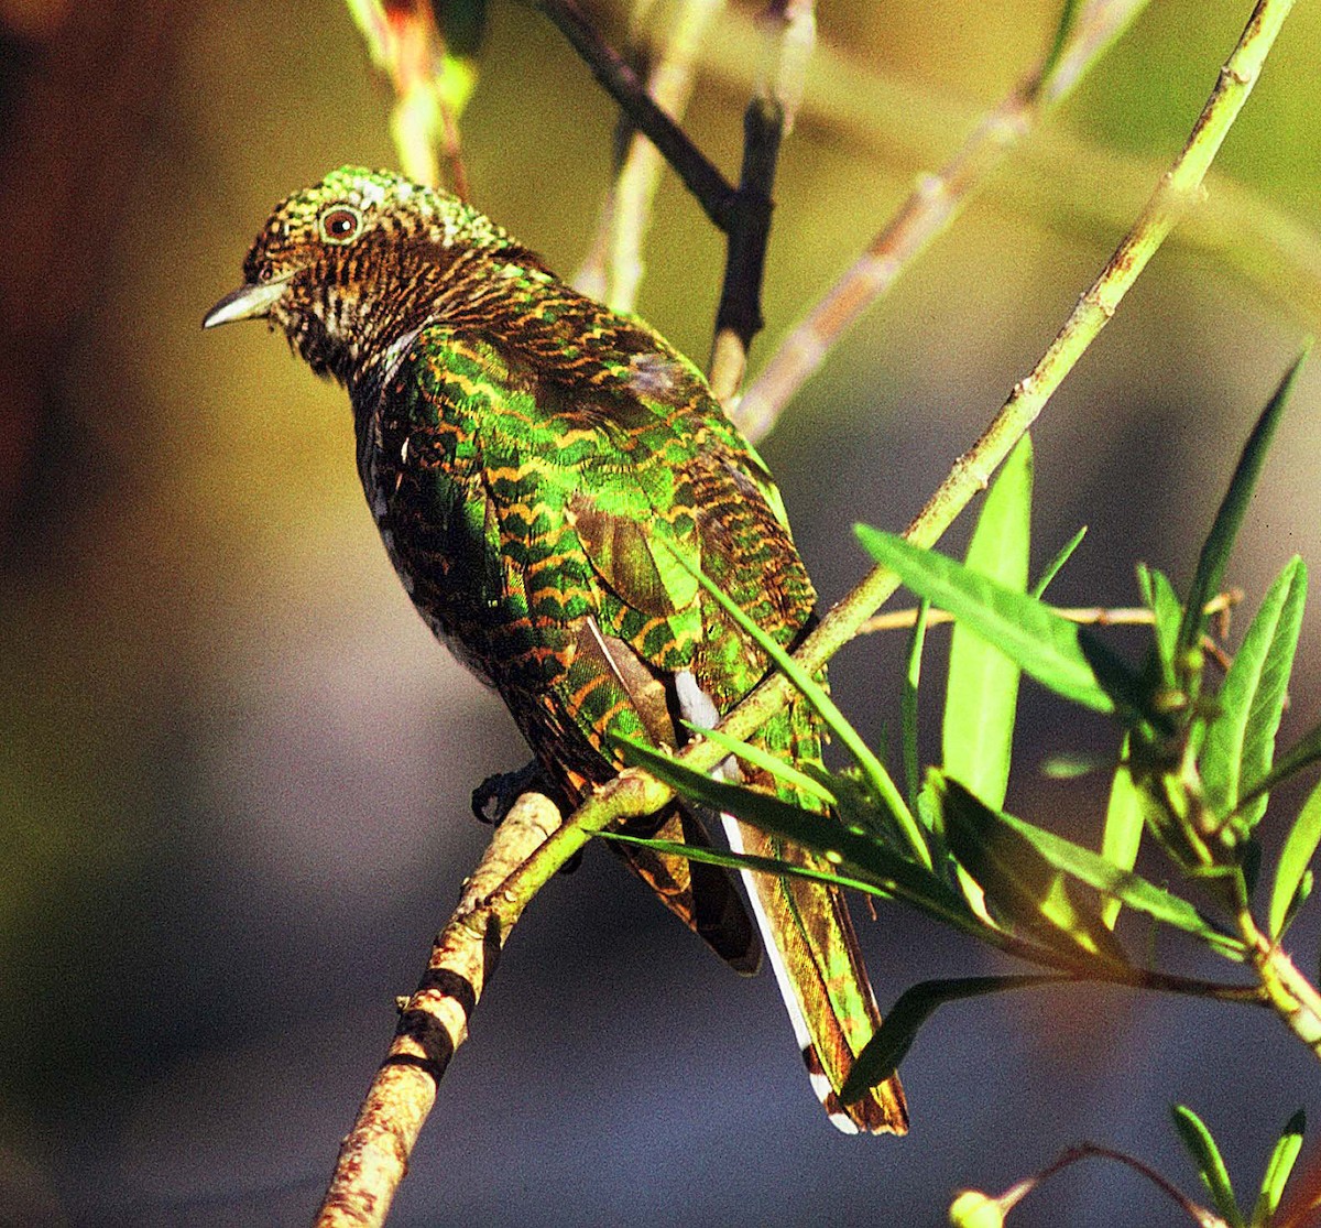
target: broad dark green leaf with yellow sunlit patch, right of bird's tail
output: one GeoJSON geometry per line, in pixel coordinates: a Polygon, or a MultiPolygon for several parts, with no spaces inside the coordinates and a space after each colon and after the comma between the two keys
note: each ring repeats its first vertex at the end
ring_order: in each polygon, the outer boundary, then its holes
{"type": "Polygon", "coordinates": [[[1073,898],[1059,868],[1024,837],[1028,825],[1009,822],[951,777],[933,772],[931,780],[950,849],[985,892],[992,912],[1059,950],[1127,966],[1100,917],[1073,898]]]}

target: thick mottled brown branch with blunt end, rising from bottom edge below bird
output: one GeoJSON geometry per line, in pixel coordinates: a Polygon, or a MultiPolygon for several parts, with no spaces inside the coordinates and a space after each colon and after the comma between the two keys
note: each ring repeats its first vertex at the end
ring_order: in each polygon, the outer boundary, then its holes
{"type": "Polygon", "coordinates": [[[495,829],[458,907],[432,945],[427,972],[403,1006],[390,1052],[376,1071],[317,1213],[317,1228],[369,1228],[386,1221],[408,1157],[468,1019],[499,960],[517,913],[502,915],[493,894],[559,826],[560,813],[524,793],[495,829]]]}

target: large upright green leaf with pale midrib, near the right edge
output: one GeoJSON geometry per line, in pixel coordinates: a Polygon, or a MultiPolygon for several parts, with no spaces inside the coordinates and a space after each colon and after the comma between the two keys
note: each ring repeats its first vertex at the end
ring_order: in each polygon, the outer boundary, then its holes
{"type": "MultiPolygon", "coordinates": [[[[1199,768],[1206,801],[1222,818],[1238,809],[1239,787],[1260,780],[1275,757],[1306,590],[1306,567],[1295,555],[1262,600],[1221,687],[1221,710],[1206,730],[1199,768]]],[[[1258,794],[1239,818],[1252,826],[1266,804],[1266,794],[1258,794]]]]}

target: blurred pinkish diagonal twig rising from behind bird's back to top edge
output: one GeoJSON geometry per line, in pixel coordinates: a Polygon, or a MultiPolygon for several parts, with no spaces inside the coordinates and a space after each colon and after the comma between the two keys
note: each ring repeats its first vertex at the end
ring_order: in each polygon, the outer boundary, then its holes
{"type": "Polygon", "coordinates": [[[1058,38],[1053,41],[1042,61],[978,124],[946,167],[918,180],[900,211],[785,338],[734,408],[734,420],[753,443],[771,430],[785,404],[845,329],[945,233],[974,192],[1145,4],[1147,0],[1110,0],[1090,5],[1062,45],[1058,38]]]}

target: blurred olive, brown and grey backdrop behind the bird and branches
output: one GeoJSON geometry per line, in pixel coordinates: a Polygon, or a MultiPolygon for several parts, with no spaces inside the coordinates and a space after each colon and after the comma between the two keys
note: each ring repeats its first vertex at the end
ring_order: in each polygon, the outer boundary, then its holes
{"type": "MultiPolygon", "coordinates": [[[[731,174],[754,9],[732,4],[708,40],[688,120],[731,174]]],[[[1247,12],[1153,3],[795,398],[762,451],[823,603],[865,571],[849,526],[902,527],[1030,369],[1247,12]]],[[[622,0],[592,13],[624,37],[622,0]]],[[[1054,19],[1049,0],[820,5],[754,369],[1054,19]]],[[[1061,603],[1133,603],[1137,559],[1186,583],[1317,328],[1318,46],[1321,11],[1299,5],[1210,202],[1037,430],[1040,560],[1091,527],[1061,603]]],[[[342,163],[395,164],[390,104],[336,0],[0,0],[5,1224],[305,1223],[394,995],[485,845],[469,790],[526,759],[386,562],[343,393],[258,326],[198,326],[275,201],[342,163]]],[[[493,3],[464,119],[473,198],[565,274],[613,128],[553,28],[493,3]]],[[[672,176],[647,259],[641,312],[704,360],[721,243],[672,176]]],[[[1313,366],[1231,570],[1250,594],[1292,553],[1321,558],[1318,423],[1313,366]]],[[[1285,738],[1321,714],[1317,627],[1285,738]]],[[[832,668],[869,736],[897,736],[902,652],[873,638],[832,668]]],[[[1112,753],[1114,734],[1025,685],[1011,808],[1091,838],[1103,787],[1037,771],[1071,749],[1112,753]]],[[[1268,851],[1297,801],[1277,797],[1268,851]]],[[[897,907],[860,927],[882,1006],[1004,968],[897,907]]],[[[1304,966],[1316,936],[1296,931],[1304,966]]],[[[1083,1138],[1196,1194],[1170,1101],[1206,1118],[1244,1190],[1293,1109],[1321,1121],[1316,1059],[1266,1013],[1118,991],[950,1006],[905,1079],[908,1139],[836,1134],[771,979],[731,976],[589,849],[514,936],[391,1223],[938,1224],[951,1190],[999,1191],[1083,1138]]],[[[1180,1220],[1091,1165],[1012,1223],[1180,1220]]]]}

